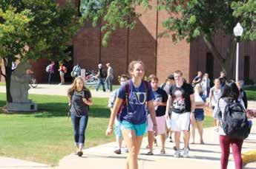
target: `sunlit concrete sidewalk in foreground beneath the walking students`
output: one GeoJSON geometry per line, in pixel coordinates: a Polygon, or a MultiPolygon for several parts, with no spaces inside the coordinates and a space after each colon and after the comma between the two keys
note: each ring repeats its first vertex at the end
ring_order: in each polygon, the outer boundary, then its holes
{"type": "MultiPolygon", "coordinates": [[[[253,121],[256,124],[256,120],[253,121]]],[[[199,141],[197,134],[196,141],[199,141]]],[[[155,168],[220,168],[220,145],[218,141],[218,134],[214,128],[206,128],[204,130],[205,145],[194,144],[190,145],[189,158],[174,158],[174,143],[166,142],[166,154],[160,154],[160,147],[154,148],[154,156],[146,156],[148,150],[145,148],[147,139],[144,138],[142,142],[142,149],[140,151],[139,165],[140,169],[155,169],[155,168]]],[[[160,145],[160,138],[157,138],[160,145]]],[[[181,144],[183,147],[183,143],[181,144]]],[[[105,145],[88,148],[84,150],[84,156],[78,157],[74,154],[65,156],[59,162],[60,169],[64,168],[90,168],[90,169],[120,169],[125,168],[126,155],[116,155],[113,153],[116,148],[116,143],[111,142],[105,145]]],[[[243,143],[243,152],[256,150],[256,127],[250,136],[243,143]]],[[[232,159],[232,155],[230,159],[232,159]]],[[[250,164],[250,165],[253,165],[250,164]]],[[[256,168],[256,166],[254,166],[256,168]]],[[[229,162],[229,168],[234,168],[234,163],[229,162]]]]}

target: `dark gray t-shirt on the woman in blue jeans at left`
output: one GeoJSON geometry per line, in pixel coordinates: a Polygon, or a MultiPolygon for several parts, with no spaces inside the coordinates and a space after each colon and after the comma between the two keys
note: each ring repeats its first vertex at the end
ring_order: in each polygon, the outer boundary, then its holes
{"type": "Polygon", "coordinates": [[[88,115],[89,106],[82,101],[82,98],[91,98],[89,89],[82,90],[81,92],[71,91],[69,94],[71,95],[70,112],[76,114],[76,116],[88,115]]]}

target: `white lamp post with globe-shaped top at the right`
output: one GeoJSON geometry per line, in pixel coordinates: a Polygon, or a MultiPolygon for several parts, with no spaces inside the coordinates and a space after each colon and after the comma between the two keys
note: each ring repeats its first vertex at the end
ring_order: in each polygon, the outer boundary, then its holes
{"type": "Polygon", "coordinates": [[[235,66],[235,81],[238,81],[238,68],[239,68],[239,41],[240,36],[243,35],[243,27],[238,22],[237,26],[234,27],[234,35],[237,37],[237,59],[236,59],[236,66],[235,66]]]}

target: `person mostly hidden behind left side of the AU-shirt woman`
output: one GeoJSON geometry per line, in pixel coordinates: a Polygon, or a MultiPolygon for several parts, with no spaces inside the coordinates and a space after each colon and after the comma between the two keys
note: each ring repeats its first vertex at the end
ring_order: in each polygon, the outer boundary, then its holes
{"type": "MultiPolygon", "coordinates": [[[[128,75],[121,75],[120,77],[120,85],[122,86],[127,80],[129,80],[128,75]]],[[[116,101],[116,95],[118,93],[118,89],[111,93],[111,97],[109,97],[108,100],[108,108],[111,108],[111,111],[113,111],[114,103],[116,101]]],[[[116,135],[116,143],[118,145],[118,149],[114,151],[115,154],[122,154],[121,148],[122,148],[122,130],[121,130],[121,122],[120,122],[120,111],[116,114],[116,120],[115,120],[115,127],[114,127],[114,133],[116,135]]],[[[128,152],[127,147],[125,146],[125,152],[128,152]]]]}

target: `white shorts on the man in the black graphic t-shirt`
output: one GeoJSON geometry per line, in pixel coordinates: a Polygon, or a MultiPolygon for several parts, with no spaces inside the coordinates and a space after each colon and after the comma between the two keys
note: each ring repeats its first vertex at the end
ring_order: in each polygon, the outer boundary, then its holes
{"type": "Polygon", "coordinates": [[[171,131],[189,131],[190,112],[183,114],[171,113],[171,131]]]}

